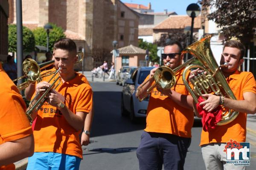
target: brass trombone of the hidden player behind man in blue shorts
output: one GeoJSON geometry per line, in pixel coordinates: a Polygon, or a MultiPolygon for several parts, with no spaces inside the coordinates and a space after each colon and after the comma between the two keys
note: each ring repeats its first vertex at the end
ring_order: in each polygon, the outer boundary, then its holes
{"type": "MultiPolygon", "coordinates": [[[[84,53],[82,51],[79,51],[76,54],[76,57],[78,57],[78,61],[76,62],[79,63],[83,60],[84,58],[84,53]]],[[[17,86],[18,90],[21,91],[29,86],[29,84],[34,83],[34,82],[41,82],[43,77],[47,77],[49,75],[55,74],[55,71],[47,71],[44,74],[41,74],[41,71],[51,65],[54,64],[54,60],[44,62],[41,64],[38,64],[34,59],[25,59],[22,64],[22,71],[23,71],[23,76],[14,79],[13,82],[27,78],[28,80],[26,82],[21,83],[20,85],[17,86]]]]}

